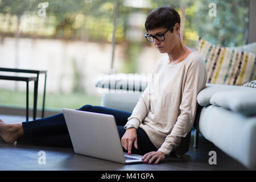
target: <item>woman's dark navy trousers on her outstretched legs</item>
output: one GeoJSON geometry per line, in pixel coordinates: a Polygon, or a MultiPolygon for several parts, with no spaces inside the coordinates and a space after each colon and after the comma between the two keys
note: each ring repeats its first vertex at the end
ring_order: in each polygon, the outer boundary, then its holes
{"type": "MultiPolygon", "coordinates": [[[[127,111],[111,109],[103,106],[85,105],[78,110],[90,111],[93,113],[112,114],[117,124],[120,139],[126,131],[123,129],[123,126],[125,126],[127,118],[129,118],[131,115],[131,113],[127,111]]],[[[36,119],[35,121],[22,122],[22,126],[24,135],[17,140],[18,144],[24,143],[40,146],[73,147],[63,113],[43,119],[36,119]]],[[[154,144],[151,143],[144,130],[139,128],[137,135],[138,150],[133,146],[131,150],[133,154],[144,155],[147,152],[157,150],[154,144]]],[[[123,148],[123,151],[126,151],[125,148],[123,148]]]]}

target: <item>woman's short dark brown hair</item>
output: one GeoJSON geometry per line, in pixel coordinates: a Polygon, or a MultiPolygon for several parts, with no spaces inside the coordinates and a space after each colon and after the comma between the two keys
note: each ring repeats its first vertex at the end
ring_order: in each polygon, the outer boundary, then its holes
{"type": "MultiPolygon", "coordinates": [[[[147,15],[145,22],[146,30],[152,30],[154,28],[171,28],[176,23],[180,24],[180,15],[170,6],[160,6],[152,10],[150,14],[147,15]]],[[[173,28],[170,30],[174,31],[173,28]]]]}

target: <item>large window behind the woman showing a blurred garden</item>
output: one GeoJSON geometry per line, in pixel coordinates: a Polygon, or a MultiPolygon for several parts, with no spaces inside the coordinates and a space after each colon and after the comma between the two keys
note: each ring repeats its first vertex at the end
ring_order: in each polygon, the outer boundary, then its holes
{"type": "MultiPolygon", "coordinates": [[[[1,0],[1,67],[47,70],[48,108],[100,105],[94,81],[111,68],[115,2],[1,0]]],[[[246,43],[250,1],[171,3],[181,16],[181,38],[188,47],[195,48],[198,36],[221,46],[246,43]]],[[[118,1],[115,73],[150,73],[163,56],[144,39],[147,14],[163,5],[170,1],[118,1]]],[[[21,83],[0,81],[0,105],[24,106],[24,88],[21,83]]],[[[43,92],[40,85],[39,91],[43,92]]]]}

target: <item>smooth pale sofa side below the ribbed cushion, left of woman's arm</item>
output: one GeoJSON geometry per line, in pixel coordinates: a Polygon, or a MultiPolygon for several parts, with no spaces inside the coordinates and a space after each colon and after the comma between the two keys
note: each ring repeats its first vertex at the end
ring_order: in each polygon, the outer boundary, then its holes
{"type": "Polygon", "coordinates": [[[101,106],[133,112],[142,93],[104,93],[101,106]]]}

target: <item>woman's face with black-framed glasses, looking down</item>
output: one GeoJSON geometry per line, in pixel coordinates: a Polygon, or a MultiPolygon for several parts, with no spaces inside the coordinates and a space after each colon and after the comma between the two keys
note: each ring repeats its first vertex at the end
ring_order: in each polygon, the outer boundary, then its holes
{"type": "MultiPolygon", "coordinates": [[[[150,35],[163,34],[167,31],[167,28],[155,28],[148,31],[150,35]]],[[[174,31],[168,31],[164,34],[165,40],[159,41],[154,39],[154,46],[158,49],[160,53],[169,53],[174,49],[177,44],[177,39],[179,38],[179,28],[174,27],[174,31]]]]}

